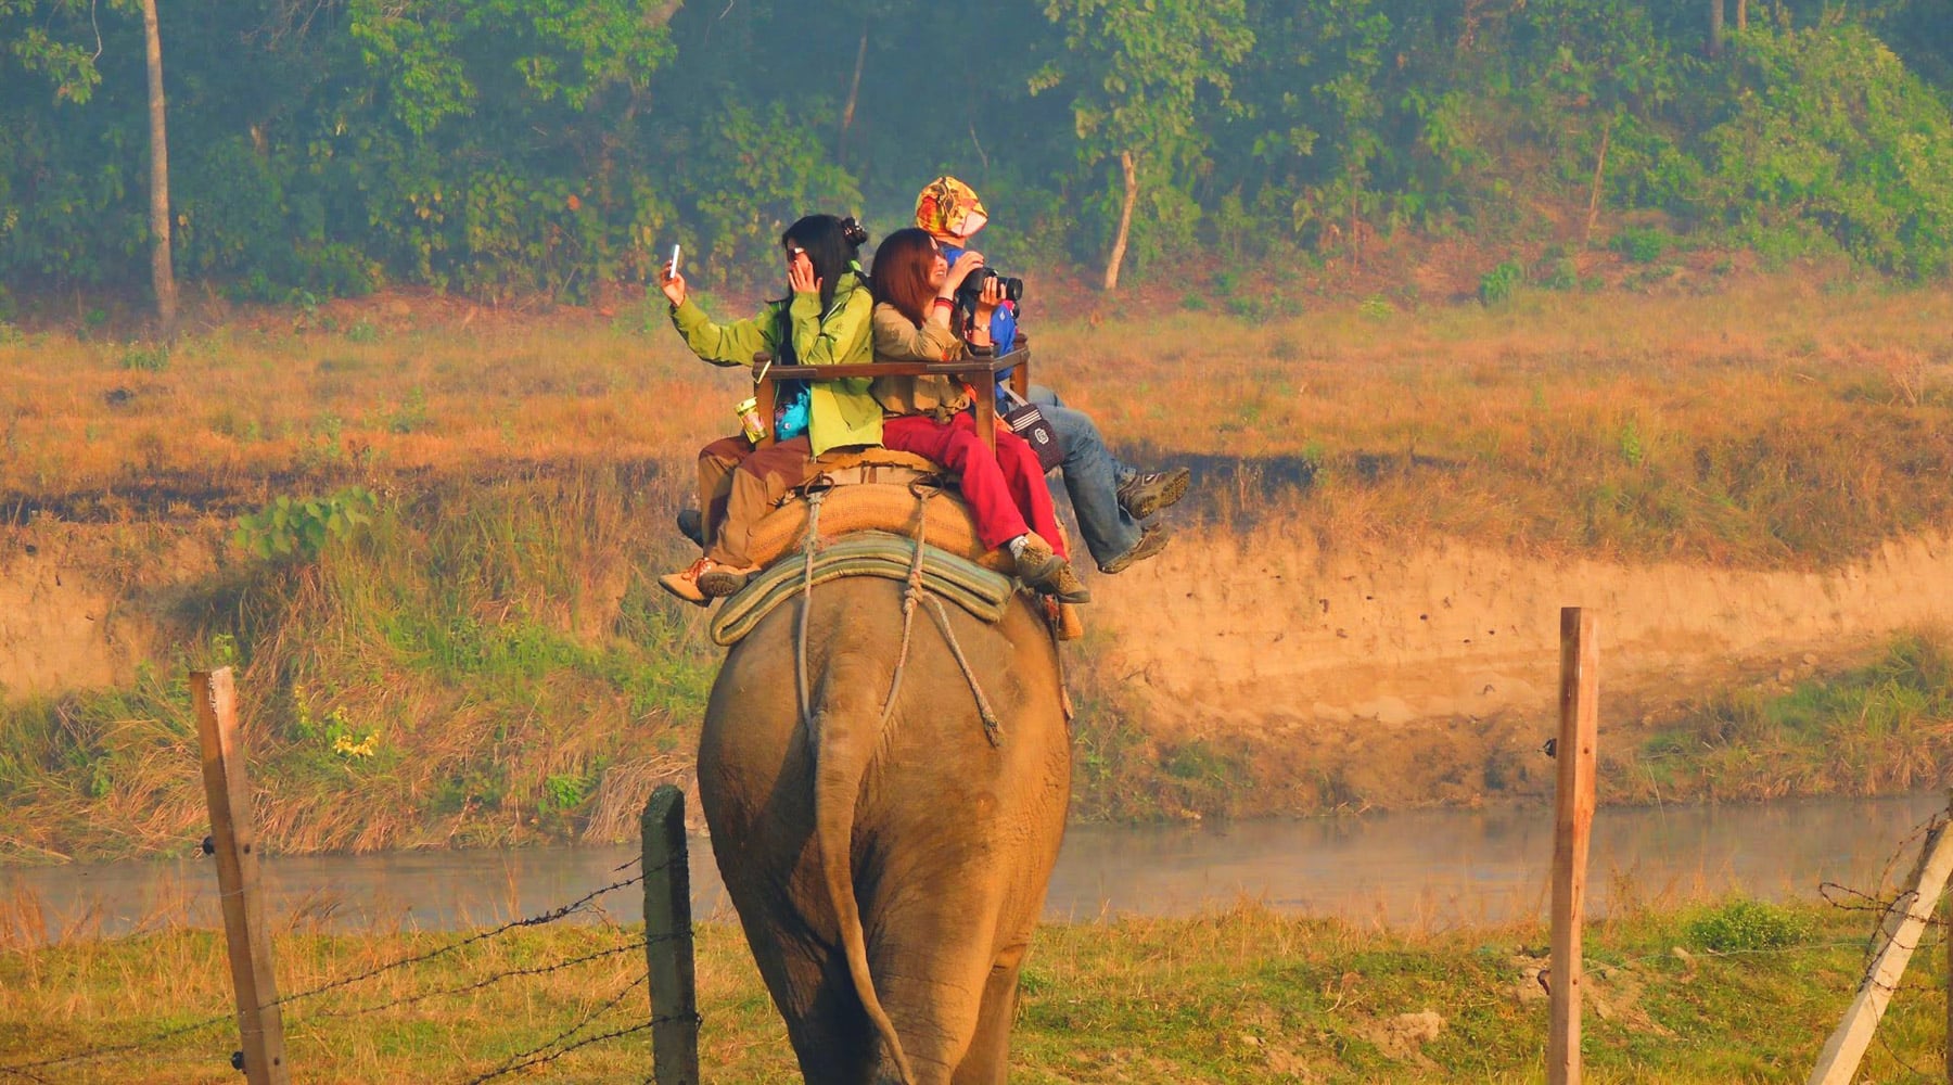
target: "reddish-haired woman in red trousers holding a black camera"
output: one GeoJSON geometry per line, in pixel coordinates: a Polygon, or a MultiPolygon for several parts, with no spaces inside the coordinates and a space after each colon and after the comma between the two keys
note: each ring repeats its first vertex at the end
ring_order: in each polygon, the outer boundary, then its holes
{"type": "MultiPolygon", "coordinates": [[[[924,230],[896,230],[875,250],[875,359],[955,361],[990,349],[990,316],[1004,301],[994,277],[975,301],[967,338],[951,322],[955,293],[982,254],[943,260],[924,230]]],[[[996,453],[984,447],[967,410],[969,394],[949,377],[877,377],[873,396],[887,412],[883,445],[928,457],[963,476],[963,502],[988,548],[1006,548],[1018,578],[1064,603],[1092,599],[1064,552],[1045,468],[1016,433],[996,429],[996,453]]]]}

